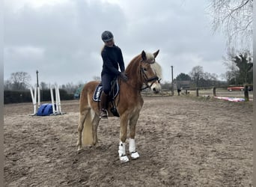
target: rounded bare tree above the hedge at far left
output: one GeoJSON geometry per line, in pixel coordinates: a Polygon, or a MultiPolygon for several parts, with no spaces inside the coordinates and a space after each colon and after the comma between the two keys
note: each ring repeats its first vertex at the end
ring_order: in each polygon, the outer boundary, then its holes
{"type": "Polygon", "coordinates": [[[26,72],[16,72],[10,74],[10,80],[12,90],[23,91],[28,88],[31,76],[26,72]]]}

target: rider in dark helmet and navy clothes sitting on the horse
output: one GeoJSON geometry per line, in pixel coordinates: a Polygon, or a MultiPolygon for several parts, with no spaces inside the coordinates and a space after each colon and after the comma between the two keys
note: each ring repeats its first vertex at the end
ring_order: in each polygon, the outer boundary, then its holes
{"type": "Polygon", "coordinates": [[[103,70],[101,72],[103,93],[100,97],[100,118],[108,118],[107,106],[111,82],[117,76],[120,76],[124,81],[127,81],[128,78],[124,73],[125,67],[122,51],[118,46],[115,46],[113,34],[110,31],[103,31],[101,39],[105,45],[101,51],[101,57],[103,58],[103,70]],[[118,66],[121,72],[118,70],[118,66]]]}

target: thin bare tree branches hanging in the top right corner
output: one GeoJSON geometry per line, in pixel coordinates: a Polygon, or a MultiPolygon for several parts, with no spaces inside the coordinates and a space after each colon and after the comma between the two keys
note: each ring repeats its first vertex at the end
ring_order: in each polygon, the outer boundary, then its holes
{"type": "Polygon", "coordinates": [[[213,31],[224,31],[228,48],[239,44],[252,49],[253,0],[211,0],[209,12],[213,31]]]}

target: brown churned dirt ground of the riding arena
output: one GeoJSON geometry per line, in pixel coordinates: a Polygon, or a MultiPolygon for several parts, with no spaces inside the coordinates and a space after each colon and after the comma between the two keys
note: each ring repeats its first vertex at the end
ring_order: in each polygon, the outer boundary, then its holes
{"type": "Polygon", "coordinates": [[[136,129],[140,158],[118,159],[119,119],[100,144],[76,152],[79,101],[64,115],[31,117],[4,105],[5,186],[252,186],[252,102],[146,97],[136,129]]]}

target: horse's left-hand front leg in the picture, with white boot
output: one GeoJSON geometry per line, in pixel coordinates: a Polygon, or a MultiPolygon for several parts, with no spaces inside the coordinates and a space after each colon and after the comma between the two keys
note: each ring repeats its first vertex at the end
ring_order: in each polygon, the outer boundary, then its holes
{"type": "Polygon", "coordinates": [[[128,125],[128,119],[127,114],[121,115],[121,121],[120,121],[120,142],[119,142],[119,159],[121,162],[128,162],[128,156],[125,150],[125,141],[127,140],[127,125],[128,125]]]}

